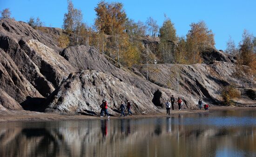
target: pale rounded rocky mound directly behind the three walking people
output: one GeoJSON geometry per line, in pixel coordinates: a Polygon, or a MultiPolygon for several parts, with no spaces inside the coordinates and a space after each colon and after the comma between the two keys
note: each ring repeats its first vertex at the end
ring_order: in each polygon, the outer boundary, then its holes
{"type": "Polygon", "coordinates": [[[107,99],[111,114],[117,114],[121,101],[125,100],[132,102],[132,109],[137,114],[157,112],[141,89],[112,75],[89,70],[70,74],[49,98],[46,111],[99,113],[102,99],[107,99]]]}

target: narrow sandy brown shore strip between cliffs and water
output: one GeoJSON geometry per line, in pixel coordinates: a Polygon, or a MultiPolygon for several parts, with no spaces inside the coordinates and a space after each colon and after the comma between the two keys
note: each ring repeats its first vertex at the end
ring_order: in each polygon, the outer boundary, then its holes
{"type": "MultiPolygon", "coordinates": [[[[221,110],[256,110],[253,107],[236,107],[236,106],[211,106],[209,111],[221,111],[221,110]]],[[[147,115],[132,115],[126,116],[127,118],[153,118],[153,117],[174,117],[180,114],[195,114],[195,113],[209,113],[205,110],[170,110],[170,115],[167,115],[165,109],[159,109],[161,113],[147,114],[147,115]]],[[[35,111],[11,111],[12,114],[0,115],[0,123],[8,122],[45,122],[45,121],[72,121],[72,120],[89,120],[89,119],[108,119],[107,117],[100,118],[98,116],[90,115],[60,115],[55,113],[44,113],[35,111]]],[[[110,116],[109,119],[123,118],[119,116],[110,116]]]]}

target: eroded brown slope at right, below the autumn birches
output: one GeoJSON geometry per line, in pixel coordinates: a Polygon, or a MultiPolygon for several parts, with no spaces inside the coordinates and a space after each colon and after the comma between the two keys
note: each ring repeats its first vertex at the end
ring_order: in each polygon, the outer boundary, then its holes
{"type": "MultiPolygon", "coordinates": [[[[141,73],[146,73],[145,66],[138,69],[141,73]]],[[[162,87],[179,91],[191,98],[191,101],[194,100],[195,104],[199,98],[203,98],[206,103],[219,104],[222,101],[223,86],[242,86],[234,72],[236,68],[231,62],[213,61],[211,65],[157,64],[155,72],[149,73],[149,80],[162,87]]]]}

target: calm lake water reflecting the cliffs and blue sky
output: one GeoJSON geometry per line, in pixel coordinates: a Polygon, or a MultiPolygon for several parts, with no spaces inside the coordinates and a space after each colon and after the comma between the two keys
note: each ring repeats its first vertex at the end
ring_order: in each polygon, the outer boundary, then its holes
{"type": "Polygon", "coordinates": [[[256,157],[256,110],[0,123],[0,157],[256,157]]]}

